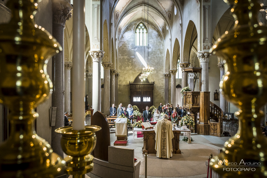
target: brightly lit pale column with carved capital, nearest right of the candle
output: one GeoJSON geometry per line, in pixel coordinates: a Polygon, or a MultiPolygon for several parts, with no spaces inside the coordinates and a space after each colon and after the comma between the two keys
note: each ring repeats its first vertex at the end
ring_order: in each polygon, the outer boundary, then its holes
{"type": "Polygon", "coordinates": [[[94,109],[94,112],[101,112],[101,60],[104,57],[104,53],[104,51],[89,51],[93,60],[92,109],[94,109]]]}

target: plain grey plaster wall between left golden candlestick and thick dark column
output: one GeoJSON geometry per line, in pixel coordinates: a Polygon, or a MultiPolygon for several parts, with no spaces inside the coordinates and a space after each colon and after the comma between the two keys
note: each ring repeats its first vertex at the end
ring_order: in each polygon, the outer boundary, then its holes
{"type": "MultiPolygon", "coordinates": [[[[50,34],[52,34],[52,1],[42,0],[38,3],[38,12],[35,15],[35,23],[38,26],[44,27],[50,34]]],[[[52,34],[53,35],[53,34],[52,34]]],[[[47,63],[47,73],[52,76],[52,59],[47,63]]],[[[54,85],[54,84],[53,84],[54,85]]],[[[52,106],[52,97],[44,101],[37,107],[39,117],[37,118],[36,133],[38,136],[45,139],[51,144],[51,130],[49,109],[52,106]]],[[[63,116],[62,116],[63,119],[63,116]]]]}

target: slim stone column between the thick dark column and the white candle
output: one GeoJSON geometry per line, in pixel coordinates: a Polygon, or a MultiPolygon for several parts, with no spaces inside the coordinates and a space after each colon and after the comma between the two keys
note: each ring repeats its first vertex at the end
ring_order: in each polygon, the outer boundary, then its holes
{"type": "Polygon", "coordinates": [[[64,64],[64,112],[71,112],[70,110],[70,69],[72,63],[64,64]]]}

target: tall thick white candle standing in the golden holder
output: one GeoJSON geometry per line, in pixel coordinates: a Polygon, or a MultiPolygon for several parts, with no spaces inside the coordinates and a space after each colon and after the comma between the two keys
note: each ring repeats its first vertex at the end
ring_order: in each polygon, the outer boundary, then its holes
{"type": "Polygon", "coordinates": [[[73,130],[84,130],[85,93],[85,0],[73,1],[73,130]]]}

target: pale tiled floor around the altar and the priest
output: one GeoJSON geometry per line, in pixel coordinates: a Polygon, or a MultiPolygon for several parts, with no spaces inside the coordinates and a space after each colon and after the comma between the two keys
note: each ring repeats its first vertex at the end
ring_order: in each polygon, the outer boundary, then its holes
{"type": "MultiPolygon", "coordinates": [[[[143,138],[133,140],[133,132],[129,131],[127,146],[117,146],[134,149],[134,155],[141,161],[140,177],[145,175],[145,157],[142,154],[143,138]]],[[[230,133],[234,136],[234,133],[230,133]]],[[[205,161],[208,160],[210,153],[217,155],[218,149],[229,137],[215,137],[192,134],[192,144],[182,141],[180,136],[180,150],[182,154],[173,154],[170,159],[157,158],[154,154],[148,154],[147,158],[147,177],[165,178],[165,177],[190,177],[203,178],[207,176],[205,161]]],[[[115,130],[110,132],[111,145],[114,144],[115,130]]]]}

